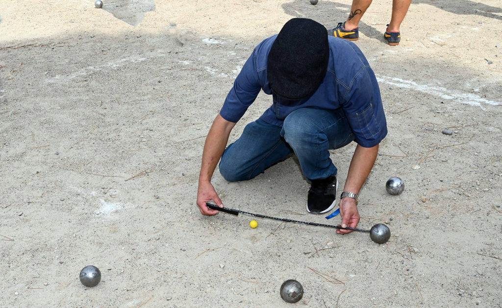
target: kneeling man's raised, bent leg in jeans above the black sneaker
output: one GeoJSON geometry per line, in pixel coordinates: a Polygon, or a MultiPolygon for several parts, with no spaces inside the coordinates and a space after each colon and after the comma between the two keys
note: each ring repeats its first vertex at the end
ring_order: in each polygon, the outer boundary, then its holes
{"type": "Polygon", "coordinates": [[[329,149],[347,145],[354,139],[341,109],[301,108],[284,120],[281,135],[293,148],[302,172],[309,180],[336,176],[329,149]]]}

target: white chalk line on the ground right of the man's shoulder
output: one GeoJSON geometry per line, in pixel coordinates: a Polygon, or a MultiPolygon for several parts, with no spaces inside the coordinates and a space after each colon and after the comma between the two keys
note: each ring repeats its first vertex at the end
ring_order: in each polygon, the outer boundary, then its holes
{"type": "Polygon", "coordinates": [[[482,107],[481,104],[488,104],[488,105],[493,105],[493,106],[502,105],[501,102],[496,102],[493,100],[485,99],[485,98],[482,98],[476,94],[461,93],[461,92],[458,92],[455,90],[450,90],[450,89],[447,89],[444,87],[418,84],[414,81],[404,80],[404,79],[397,78],[397,77],[387,77],[387,76],[378,75],[378,76],[376,76],[376,80],[379,83],[386,83],[386,84],[393,85],[393,86],[400,87],[400,88],[412,89],[412,90],[419,91],[422,93],[427,93],[427,94],[431,94],[434,96],[438,96],[443,99],[450,99],[450,100],[456,101],[458,103],[469,104],[469,105],[473,105],[473,106],[481,106],[482,107]]]}

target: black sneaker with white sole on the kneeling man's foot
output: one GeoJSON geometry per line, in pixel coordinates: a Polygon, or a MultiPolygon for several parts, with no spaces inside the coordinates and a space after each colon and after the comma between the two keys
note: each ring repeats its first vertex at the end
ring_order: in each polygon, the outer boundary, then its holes
{"type": "Polygon", "coordinates": [[[331,210],[336,203],[338,181],[336,177],[311,180],[312,185],[307,196],[307,212],[322,214],[331,210]]]}

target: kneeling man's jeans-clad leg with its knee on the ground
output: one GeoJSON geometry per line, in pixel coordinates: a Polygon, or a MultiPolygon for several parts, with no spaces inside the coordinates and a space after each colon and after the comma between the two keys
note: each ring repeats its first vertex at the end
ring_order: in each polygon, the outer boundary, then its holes
{"type": "Polygon", "coordinates": [[[261,119],[247,124],[221,156],[219,171],[223,178],[229,182],[253,179],[290,155],[292,150],[280,132],[281,127],[261,119]]]}

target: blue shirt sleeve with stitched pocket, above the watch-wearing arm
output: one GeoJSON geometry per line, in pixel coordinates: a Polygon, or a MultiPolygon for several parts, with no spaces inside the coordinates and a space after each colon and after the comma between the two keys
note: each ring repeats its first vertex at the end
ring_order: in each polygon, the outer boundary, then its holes
{"type": "Polygon", "coordinates": [[[355,141],[364,147],[379,144],[387,135],[382,97],[376,77],[364,66],[346,93],[343,111],[355,141]]]}

